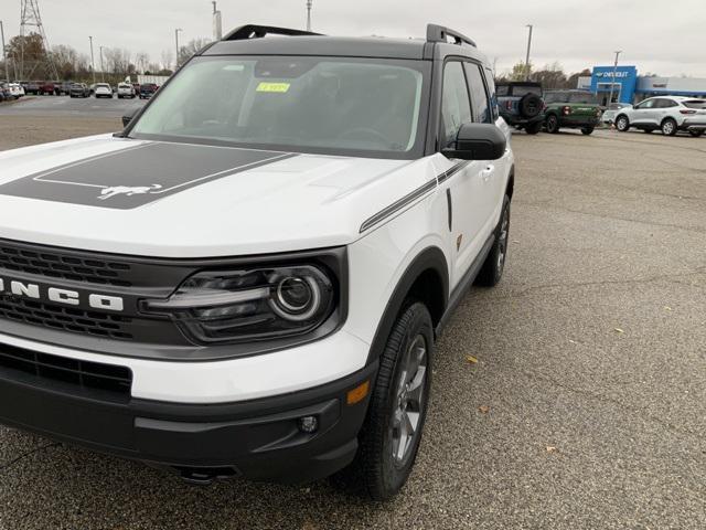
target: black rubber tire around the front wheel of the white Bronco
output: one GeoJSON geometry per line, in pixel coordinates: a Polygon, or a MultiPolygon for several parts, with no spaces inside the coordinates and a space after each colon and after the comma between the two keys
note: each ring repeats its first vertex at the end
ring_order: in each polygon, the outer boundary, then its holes
{"type": "MultiPolygon", "coordinates": [[[[408,300],[393,326],[387,346],[379,359],[377,380],[371,395],[365,423],[359,435],[359,451],[353,463],[336,474],[333,481],[346,489],[374,500],[387,500],[402,489],[417,457],[419,442],[427,415],[431,390],[431,359],[434,352],[434,328],[427,307],[408,300]],[[422,363],[424,374],[418,381],[420,406],[416,414],[417,425],[402,459],[394,455],[394,420],[402,403],[400,392],[407,395],[407,360],[417,354],[419,341],[426,347],[422,363]]],[[[418,374],[418,372],[417,372],[418,374]]],[[[417,380],[413,380],[413,382],[417,380]]],[[[414,411],[413,411],[414,412],[414,411]]],[[[404,413],[406,415],[406,412],[404,413]]],[[[402,426],[402,423],[400,423],[402,426]]],[[[399,447],[399,445],[397,445],[399,447]]]]}

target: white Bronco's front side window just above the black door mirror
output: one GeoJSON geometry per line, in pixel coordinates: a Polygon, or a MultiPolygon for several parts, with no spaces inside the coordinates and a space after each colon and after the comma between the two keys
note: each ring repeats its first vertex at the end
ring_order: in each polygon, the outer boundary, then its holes
{"type": "Polygon", "coordinates": [[[470,120],[471,105],[463,66],[456,61],[447,63],[443,67],[441,91],[441,148],[454,142],[461,125],[470,120]]]}

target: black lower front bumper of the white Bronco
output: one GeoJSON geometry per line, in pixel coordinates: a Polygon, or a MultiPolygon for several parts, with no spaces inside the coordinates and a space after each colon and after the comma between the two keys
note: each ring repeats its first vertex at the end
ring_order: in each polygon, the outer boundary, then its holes
{"type": "Polygon", "coordinates": [[[377,363],[334,382],[237,403],[181,404],[108,396],[36,374],[0,368],[0,423],[159,467],[193,481],[243,476],[303,483],[346,466],[357,449],[377,363]],[[298,420],[314,415],[314,434],[298,420]]]}

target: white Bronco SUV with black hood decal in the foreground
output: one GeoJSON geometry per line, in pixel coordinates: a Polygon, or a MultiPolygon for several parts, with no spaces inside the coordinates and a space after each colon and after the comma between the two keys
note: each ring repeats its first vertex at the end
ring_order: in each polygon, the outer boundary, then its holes
{"type": "Polygon", "coordinates": [[[438,25],[248,25],[124,121],[0,153],[0,422],[195,483],[396,494],[435,338],[505,263],[485,57],[438,25]]]}

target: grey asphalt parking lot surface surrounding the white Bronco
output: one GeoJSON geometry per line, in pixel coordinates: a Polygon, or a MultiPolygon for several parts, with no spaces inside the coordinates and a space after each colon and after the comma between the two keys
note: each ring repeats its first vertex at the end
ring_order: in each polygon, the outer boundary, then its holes
{"type": "MultiPolygon", "coordinates": [[[[120,127],[31,103],[0,107],[0,149],[120,127]]],[[[706,140],[567,131],[514,149],[505,276],[438,343],[395,500],[196,488],[0,427],[0,528],[705,528],[706,140]]]]}

